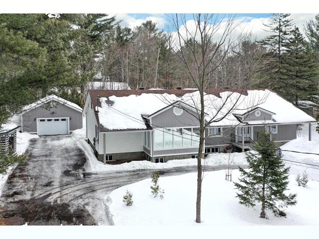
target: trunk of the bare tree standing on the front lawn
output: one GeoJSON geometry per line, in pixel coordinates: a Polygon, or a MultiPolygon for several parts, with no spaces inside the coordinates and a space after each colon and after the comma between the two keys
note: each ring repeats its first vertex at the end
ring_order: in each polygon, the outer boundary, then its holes
{"type": "Polygon", "coordinates": [[[204,138],[205,138],[205,115],[204,115],[204,92],[202,90],[199,91],[200,94],[200,138],[199,138],[199,147],[198,147],[198,155],[197,155],[197,198],[196,198],[196,223],[200,223],[200,204],[201,204],[201,158],[204,146],[204,138]]]}

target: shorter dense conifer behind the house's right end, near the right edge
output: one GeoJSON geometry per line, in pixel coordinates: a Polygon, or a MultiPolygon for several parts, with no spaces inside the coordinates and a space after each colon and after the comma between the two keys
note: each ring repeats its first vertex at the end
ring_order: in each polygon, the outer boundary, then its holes
{"type": "Polygon", "coordinates": [[[318,94],[318,65],[298,27],[292,31],[286,48],[285,95],[298,105],[298,100],[308,100],[309,96],[318,94]]]}

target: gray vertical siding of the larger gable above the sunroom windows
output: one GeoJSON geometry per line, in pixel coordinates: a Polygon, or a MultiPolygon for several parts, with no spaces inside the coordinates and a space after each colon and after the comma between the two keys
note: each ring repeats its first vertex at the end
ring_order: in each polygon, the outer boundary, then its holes
{"type": "Polygon", "coordinates": [[[183,113],[180,116],[176,116],[173,112],[173,107],[171,107],[159,115],[154,116],[151,119],[151,124],[154,128],[188,127],[199,126],[199,120],[185,110],[183,110],[183,113]]]}

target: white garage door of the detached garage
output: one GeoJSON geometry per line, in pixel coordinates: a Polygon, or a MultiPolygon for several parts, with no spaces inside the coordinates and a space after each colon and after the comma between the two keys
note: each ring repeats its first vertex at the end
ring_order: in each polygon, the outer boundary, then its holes
{"type": "Polygon", "coordinates": [[[69,133],[68,118],[46,118],[36,120],[36,130],[38,135],[55,135],[69,133]]]}

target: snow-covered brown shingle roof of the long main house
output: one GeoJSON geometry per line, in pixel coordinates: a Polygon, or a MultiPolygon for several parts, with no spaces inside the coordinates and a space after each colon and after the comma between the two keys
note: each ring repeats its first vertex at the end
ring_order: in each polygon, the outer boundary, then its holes
{"type": "MultiPolygon", "coordinates": [[[[256,107],[273,112],[273,123],[316,121],[276,93],[263,90],[206,90],[204,96],[206,120],[215,117],[210,126],[242,124],[233,115],[242,115],[256,107]],[[235,106],[235,107],[234,107],[235,106]],[[218,111],[221,108],[220,111],[218,111]],[[224,119],[222,119],[225,115],[224,119]]],[[[97,118],[109,130],[147,129],[143,115],[152,115],[175,101],[200,109],[199,92],[194,90],[166,91],[96,91],[101,106],[97,118]],[[130,94],[131,93],[131,94],[130,94]]],[[[152,125],[151,125],[152,126],[152,125]]]]}

